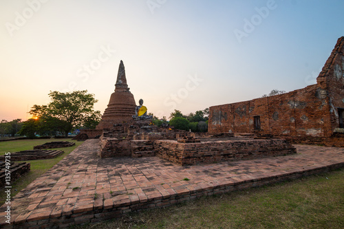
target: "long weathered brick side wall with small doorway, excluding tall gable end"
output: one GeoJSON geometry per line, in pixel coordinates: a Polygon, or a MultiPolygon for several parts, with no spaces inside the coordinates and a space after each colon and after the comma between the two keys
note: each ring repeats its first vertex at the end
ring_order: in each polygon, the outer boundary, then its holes
{"type": "Polygon", "coordinates": [[[330,123],[326,98],[316,98],[316,85],[287,94],[211,107],[210,133],[262,133],[325,136],[330,123]],[[259,116],[260,129],[255,129],[259,116]]]}

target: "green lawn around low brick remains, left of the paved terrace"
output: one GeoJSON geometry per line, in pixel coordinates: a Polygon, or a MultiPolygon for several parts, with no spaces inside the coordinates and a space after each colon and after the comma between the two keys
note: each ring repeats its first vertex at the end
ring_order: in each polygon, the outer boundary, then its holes
{"type": "MultiPolygon", "coordinates": [[[[6,152],[14,153],[18,151],[32,150],[34,149],[34,146],[39,145],[39,144],[44,144],[45,142],[60,142],[60,141],[75,142],[75,146],[57,148],[58,150],[62,150],[65,153],[52,159],[26,161],[30,163],[31,170],[29,173],[23,175],[23,177],[20,177],[15,182],[12,182],[12,187],[13,187],[11,190],[12,197],[14,197],[14,195],[19,193],[20,190],[28,186],[28,184],[33,182],[34,179],[41,176],[43,173],[45,173],[50,168],[52,168],[52,166],[54,166],[57,162],[61,161],[66,155],[71,153],[77,146],[79,146],[83,142],[71,140],[70,138],[14,140],[14,141],[8,141],[8,142],[0,142],[0,155],[4,155],[6,152]]],[[[2,190],[0,190],[0,206],[5,203],[5,199],[6,199],[5,193],[2,190]]]]}

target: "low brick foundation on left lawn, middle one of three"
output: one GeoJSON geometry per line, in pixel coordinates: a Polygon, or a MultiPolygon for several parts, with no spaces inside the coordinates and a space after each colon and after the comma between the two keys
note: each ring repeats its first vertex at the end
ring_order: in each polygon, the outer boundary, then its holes
{"type": "MultiPolygon", "coordinates": [[[[50,159],[61,155],[64,151],[34,149],[29,151],[19,151],[11,153],[11,161],[28,161],[28,160],[43,160],[50,159]]],[[[0,156],[0,160],[5,160],[5,156],[0,156]]]]}

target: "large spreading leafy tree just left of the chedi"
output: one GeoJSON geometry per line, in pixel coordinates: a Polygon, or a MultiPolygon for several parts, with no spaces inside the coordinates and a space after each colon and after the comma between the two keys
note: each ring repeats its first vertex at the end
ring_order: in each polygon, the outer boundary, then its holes
{"type": "Polygon", "coordinates": [[[98,102],[94,94],[84,91],[62,93],[50,91],[49,105],[34,105],[30,114],[41,120],[42,127],[38,131],[61,131],[67,137],[69,131],[76,127],[95,127],[100,120],[100,111],[94,111],[94,103],[98,102]]]}

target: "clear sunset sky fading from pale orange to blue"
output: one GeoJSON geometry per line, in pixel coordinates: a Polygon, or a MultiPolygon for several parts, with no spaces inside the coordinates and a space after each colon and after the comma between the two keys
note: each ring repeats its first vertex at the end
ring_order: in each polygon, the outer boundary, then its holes
{"type": "Polygon", "coordinates": [[[338,0],[0,0],[0,120],[50,91],[104,112],[120,60],[136,104],[169,118],[316,83],[339,37],[338,0]]]}

